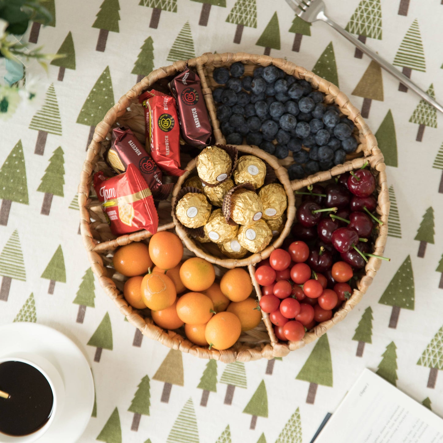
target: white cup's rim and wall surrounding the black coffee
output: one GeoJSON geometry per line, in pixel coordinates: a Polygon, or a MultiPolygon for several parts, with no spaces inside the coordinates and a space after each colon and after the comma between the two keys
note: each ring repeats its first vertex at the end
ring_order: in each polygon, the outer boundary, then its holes
{"type": "Polygon", "coordinates": [[[0,443],[31,443],[39,439],[50,427],[56,416],[59,416],[65,403],[65,385],[54,365],[37,354],[16,353],[0,358],[0,364],[6,361],[21,361],[38,369],[51,386],[54,397],[49,420],[37,431],[27,435],[6,435],[0,431],[0,443]]]}

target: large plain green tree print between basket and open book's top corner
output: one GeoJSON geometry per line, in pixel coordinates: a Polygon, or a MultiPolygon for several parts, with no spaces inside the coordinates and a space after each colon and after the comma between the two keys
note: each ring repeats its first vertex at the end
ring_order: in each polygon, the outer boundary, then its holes
{"type": "Polygon", "coordinates": [[[318,385],[332,387],[332,361],[326,334],[323,334],[315,343],[311,355],[295,379],[309,381],[306,398],[306,403],[309,404],[314,404],[318,385]]]}

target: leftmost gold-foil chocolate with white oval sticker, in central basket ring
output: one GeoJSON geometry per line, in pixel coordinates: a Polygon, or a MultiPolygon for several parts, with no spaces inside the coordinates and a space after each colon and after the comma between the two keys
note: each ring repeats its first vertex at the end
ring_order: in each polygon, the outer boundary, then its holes
{"type": "Polygon", "coordinates": [[[177,203],[175,215],[188,228],[206,225],[211,214],[211,204],[204,194],[188,192],[177,203]]]}

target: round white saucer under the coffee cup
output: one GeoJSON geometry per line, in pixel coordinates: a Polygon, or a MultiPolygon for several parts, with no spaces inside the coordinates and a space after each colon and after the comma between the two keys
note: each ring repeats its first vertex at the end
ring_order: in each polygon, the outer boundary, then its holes
{"type": "Polygon", "coordinates": [[[15,352],[40,354],[49,360],[65,384],[65,404],[38,443],[75,443],[85,431],[94,404],[89,363],[77,345],[58,330],[36,323],[0,326],[0,358],[15,352]]]}

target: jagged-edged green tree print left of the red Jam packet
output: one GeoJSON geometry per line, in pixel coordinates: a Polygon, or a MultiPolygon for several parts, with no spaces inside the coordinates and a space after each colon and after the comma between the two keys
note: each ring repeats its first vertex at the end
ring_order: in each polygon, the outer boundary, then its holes
{"type": "Polygon", "coordinates": [[[45,169],[45,174],[43,175],[40,186],[37,188],[39,192],[44,192],[42,209],[40,214],[49,215],[51,210],[52,197],[58,195],[63,197],[63,185],[65,180],[63,175],[65,175],[65,168],[63,164],[65,160],[63,159],[64,152],[59,146],[54,152],[52,157],[49,159],[49,165],[45,169]]]}

